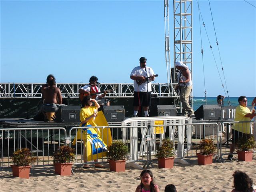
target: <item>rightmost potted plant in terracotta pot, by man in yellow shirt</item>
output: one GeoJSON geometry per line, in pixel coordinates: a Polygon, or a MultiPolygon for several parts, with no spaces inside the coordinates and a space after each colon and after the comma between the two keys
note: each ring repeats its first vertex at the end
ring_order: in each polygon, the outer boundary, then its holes
{"type": "Polygon", "coordinates": [[[238,161],[252,161],[252,148],[256,147],[254,137],[250,134],[244,134],[237,142],[238,161]]]}

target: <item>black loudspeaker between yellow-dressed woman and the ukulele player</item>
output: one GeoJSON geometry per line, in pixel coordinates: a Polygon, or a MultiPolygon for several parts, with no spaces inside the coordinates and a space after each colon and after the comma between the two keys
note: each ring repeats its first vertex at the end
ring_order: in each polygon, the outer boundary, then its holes
{"type": "Polygon", "coordinates": [[[122,122],[124,120],[124,112],[123,105],[103,106],[103,113],[107,122],[122,122]]]}

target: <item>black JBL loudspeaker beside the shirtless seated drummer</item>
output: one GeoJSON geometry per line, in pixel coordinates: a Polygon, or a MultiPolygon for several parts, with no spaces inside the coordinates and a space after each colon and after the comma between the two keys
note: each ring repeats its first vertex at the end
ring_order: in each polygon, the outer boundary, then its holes
{"type": "Polygon", "coordinates": [[[58,111],[55,113],[56,122],[80,122],[80,106],[60,106],[58,111]]]}

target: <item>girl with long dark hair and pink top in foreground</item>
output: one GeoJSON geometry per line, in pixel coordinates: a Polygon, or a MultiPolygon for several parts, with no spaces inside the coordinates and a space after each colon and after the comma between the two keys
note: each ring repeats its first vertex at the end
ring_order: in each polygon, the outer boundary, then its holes
{"type": "Polygon", "coordinates": [[[140,174],[140,184],[135,192],[159,192],[158,186],[154,184],[152,171],[143,170],[140,174]]]}

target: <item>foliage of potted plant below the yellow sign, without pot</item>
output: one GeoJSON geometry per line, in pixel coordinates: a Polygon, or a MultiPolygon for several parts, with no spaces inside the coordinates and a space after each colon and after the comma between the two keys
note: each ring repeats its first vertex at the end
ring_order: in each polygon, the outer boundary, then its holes
{"type": "Polygon", "coordinates": [[[162,140],[162,145],[156,151],[157,158],[168,158],[174,157],[174,145],[170,138],[162,140]]]}

